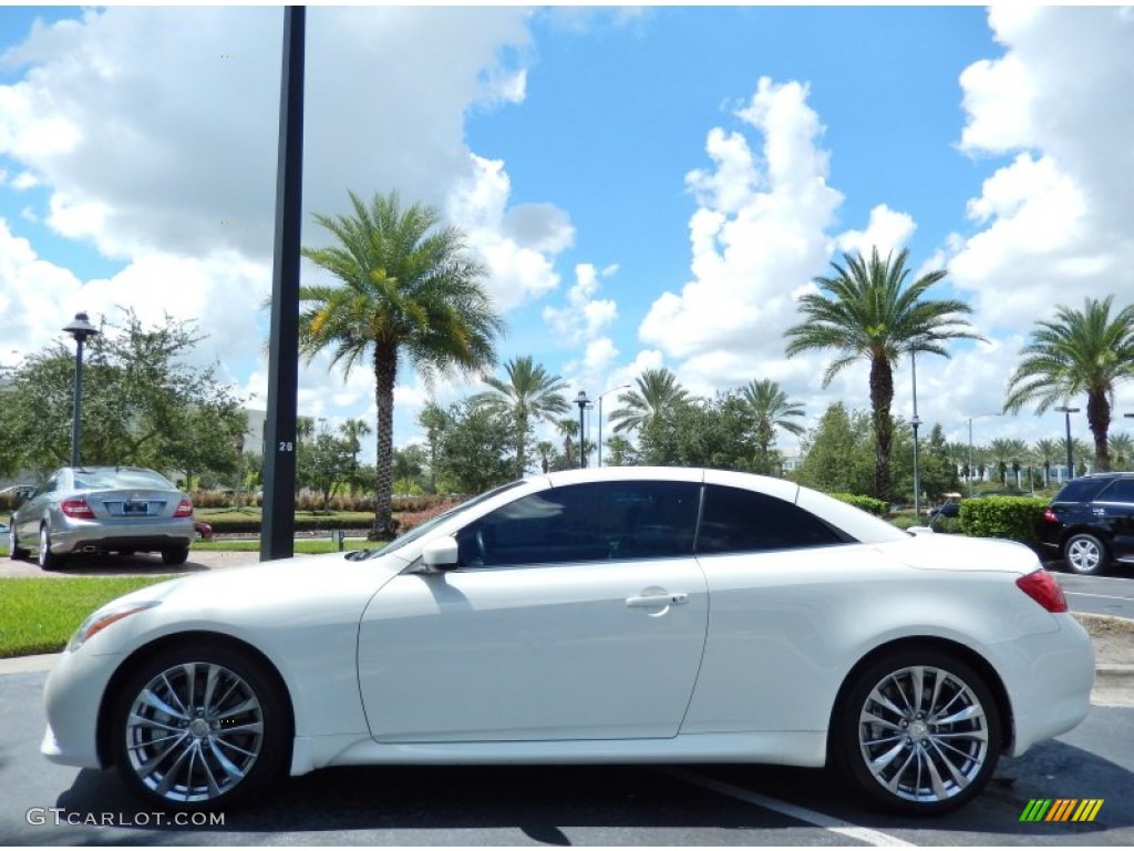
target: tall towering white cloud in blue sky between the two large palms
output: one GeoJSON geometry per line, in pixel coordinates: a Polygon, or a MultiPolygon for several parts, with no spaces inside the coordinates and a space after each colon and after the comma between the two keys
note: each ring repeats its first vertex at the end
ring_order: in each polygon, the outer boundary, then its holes
{"type": "Polygon", "coordinates": [[[822,271],[826,231],[843,196],[827,185],[819,116],[799,83],[759,82],[736,116],[761,138],[712,129],[713,169],[689,172],[700,204],[689,220],[693,280],[654,301],[638,335],[684,361],[693,387],[727,387],[782,360],[782,330],[796,321],[794,293],[822,271]]]}

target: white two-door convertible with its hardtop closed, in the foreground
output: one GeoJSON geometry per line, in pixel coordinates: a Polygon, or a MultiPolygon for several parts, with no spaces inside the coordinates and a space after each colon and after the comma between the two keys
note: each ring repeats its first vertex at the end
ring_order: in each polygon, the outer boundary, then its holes
{"type": "Polygon", "coordinates": [[[228,807],[379,764],[837,764],[938,812],[1086,715],[1091,642],[1027,548],[790,482],[541,475],[384,549],[143,589],[79,627],[42,750],[228,807]]]}

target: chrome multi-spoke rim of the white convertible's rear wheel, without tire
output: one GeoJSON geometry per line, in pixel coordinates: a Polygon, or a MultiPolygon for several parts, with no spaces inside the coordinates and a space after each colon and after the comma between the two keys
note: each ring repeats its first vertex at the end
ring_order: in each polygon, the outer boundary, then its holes
{"type": "Polygon", "coordinates": [[[989,718],[973,688],[929,665],[883,677],[858,717],[858,748],[870,774],[911,802],[964,792],[989,759],[989,718]]]}

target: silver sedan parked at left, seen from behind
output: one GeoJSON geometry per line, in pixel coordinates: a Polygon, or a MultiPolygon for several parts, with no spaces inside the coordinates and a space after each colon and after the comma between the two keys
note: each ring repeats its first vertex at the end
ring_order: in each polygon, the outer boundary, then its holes
{"type": "Polygon", "coordinates": [[[60,567],[78,553],[161,553],[181,564],[195,537],[193,503],[153,470],[61,467],[11,515],[12,558],[36,553],[40,566],[60,567]]]}

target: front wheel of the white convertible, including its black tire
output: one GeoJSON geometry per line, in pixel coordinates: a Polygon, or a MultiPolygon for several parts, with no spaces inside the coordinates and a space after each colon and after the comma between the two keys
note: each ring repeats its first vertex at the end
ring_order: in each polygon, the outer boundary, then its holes
{"type": "Polygon", "coordinates": [[[226,644],[194,641],[143,660],[110,719],[119,776],[162,809],[247,803],[281,780],[290,760],[290,713],[277,680],[226,644]],[[169,744],[177,728],[180,739],[169,744]]]}

